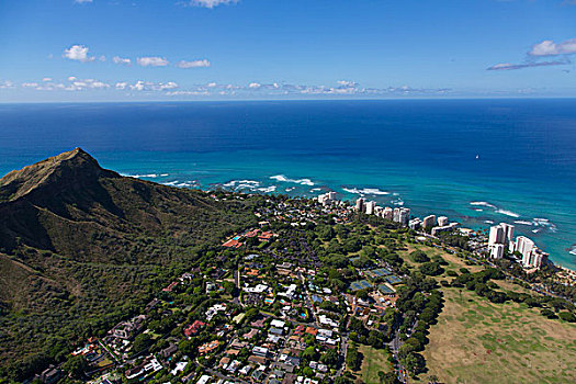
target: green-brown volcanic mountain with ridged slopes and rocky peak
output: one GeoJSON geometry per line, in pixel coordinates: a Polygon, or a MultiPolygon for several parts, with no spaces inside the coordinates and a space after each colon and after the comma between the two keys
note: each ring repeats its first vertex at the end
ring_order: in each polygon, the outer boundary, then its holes
{"type": "Polygon", "coordinates": [[[256,223],[261,197],[217,194],[121,177],[80,148],[0,179],[0,365],[64,353],[256,223]]]}

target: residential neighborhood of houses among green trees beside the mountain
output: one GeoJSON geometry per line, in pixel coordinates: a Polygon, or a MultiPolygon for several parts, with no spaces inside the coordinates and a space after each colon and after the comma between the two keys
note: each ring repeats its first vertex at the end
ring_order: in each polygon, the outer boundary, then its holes
{"type": "MultiPolygon", "coordinates": [[[[72,355],[82,359],[82,374],[104,384],[353,383],[359,350],[370,349],[386,361],[379,377],[408,382],[425,362],[403,345],[427,329],[442,297],[433,280],[409,275],[398,251],[413,248],[407,244],[456,249],[416,230],[414,219],[408,228],[409,210],[396,210],[395,219],[394,210],[369,205],[366,214],[364,204],[331,193],[268,199],[255,213],[258,227],[224,239],[140,313],[80,346],[72,355]]],[[[471,248],[483,245],[475,255],[485,252],[483,233],[458,236],[471,248]]],[[[420,253],[410,255],[429,260],[420,253]]],[[[50,370],[42,382],[63,374],[50,370]]]]}

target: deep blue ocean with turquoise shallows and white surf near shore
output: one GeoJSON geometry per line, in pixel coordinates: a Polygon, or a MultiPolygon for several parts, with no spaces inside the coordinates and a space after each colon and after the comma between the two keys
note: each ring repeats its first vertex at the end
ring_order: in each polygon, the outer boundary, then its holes
{"type": "Polygon", "coordinates": [[[0,173],[77,146],[182,188],[332,190],[506,222],[576,268],[574,99],[0,105],[0,173]]]}

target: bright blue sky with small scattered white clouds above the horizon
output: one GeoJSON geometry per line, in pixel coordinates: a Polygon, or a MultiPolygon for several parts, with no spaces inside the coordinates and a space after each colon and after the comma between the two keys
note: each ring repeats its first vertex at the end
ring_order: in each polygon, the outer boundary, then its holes
{"type": "Polygon", "coordinates": [[[0,2],[0,102],[576,97],[576,0],[0,2]]]}

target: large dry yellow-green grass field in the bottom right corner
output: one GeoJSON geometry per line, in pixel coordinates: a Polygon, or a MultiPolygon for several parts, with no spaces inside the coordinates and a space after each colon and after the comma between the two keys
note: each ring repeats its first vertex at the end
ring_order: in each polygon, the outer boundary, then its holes
{"type": "Polygon", "coordinates": [[[575,383],[576,325],[513,303],[444,289],[445,307],[423,355],[445,383],[575,383]]]}

